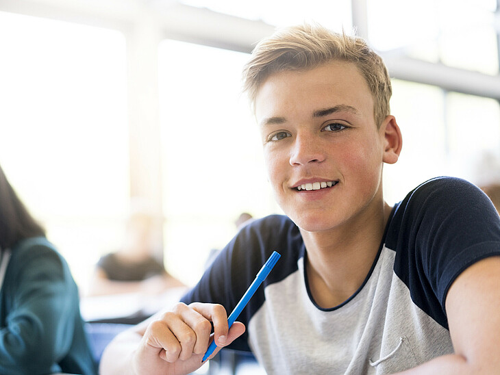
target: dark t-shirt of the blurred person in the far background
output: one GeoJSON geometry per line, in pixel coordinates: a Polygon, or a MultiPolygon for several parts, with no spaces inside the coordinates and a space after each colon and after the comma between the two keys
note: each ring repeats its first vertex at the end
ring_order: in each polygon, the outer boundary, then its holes
{"type": "Polygon", "coordinates": [[[162,263],[153,257],[131,263],[122,261],[116,253],[101,257],[97,266],[106,273],[108,279],[115,281],[142,281],[165,272],[162,263]]]}

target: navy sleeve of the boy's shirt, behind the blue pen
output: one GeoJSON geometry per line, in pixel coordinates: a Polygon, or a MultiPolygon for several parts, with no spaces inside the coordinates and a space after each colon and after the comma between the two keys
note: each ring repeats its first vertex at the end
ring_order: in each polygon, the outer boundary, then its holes
{"type": "MultiPolygon", "coordinates": [[[[273,251],[277,251],[282,255],[279,263],[238,318],[238,322],[247,325],[253,313],[264,303],[266,285],[286,277],[290,268],[297,269],[297,253],[300,251],[297,243],[301,243],[299,229],[286,216],[273,215],[254,220],[243,227],[221,250],[197,285],[181,301],[186,304],[218,303],[225,307],[229,315],[268,257],[273,251]]],[[[250,351],[247,339],[245,332],[229,348],[250,351]]]]}

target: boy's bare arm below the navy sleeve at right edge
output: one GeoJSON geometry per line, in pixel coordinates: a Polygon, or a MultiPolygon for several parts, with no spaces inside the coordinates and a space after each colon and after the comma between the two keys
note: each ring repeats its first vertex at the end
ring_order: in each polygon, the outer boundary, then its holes
{"type": "Polygon", "coordinates": [[[446,311],[455,354],[401,374],[497,374],[500,368],[500,257],[467,268],[451,285],[446,311]]]}

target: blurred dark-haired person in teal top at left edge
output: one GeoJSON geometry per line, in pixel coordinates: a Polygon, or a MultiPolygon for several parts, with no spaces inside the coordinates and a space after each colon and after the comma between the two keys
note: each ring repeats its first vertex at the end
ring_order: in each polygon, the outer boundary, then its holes
{"type": "Polygon", "coordinates": [[[0,168],[0,374],[97,374],[77,285],[0,168]]]}

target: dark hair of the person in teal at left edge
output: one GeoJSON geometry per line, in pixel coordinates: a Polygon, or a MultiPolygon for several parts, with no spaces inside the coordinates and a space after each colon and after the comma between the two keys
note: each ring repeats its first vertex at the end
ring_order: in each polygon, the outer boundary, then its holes
{"type": "Polygon", "coordinates": [[[0,166],[0,248],[40,235],[45,236],[45,229],[29,214],[0,166]]]}

